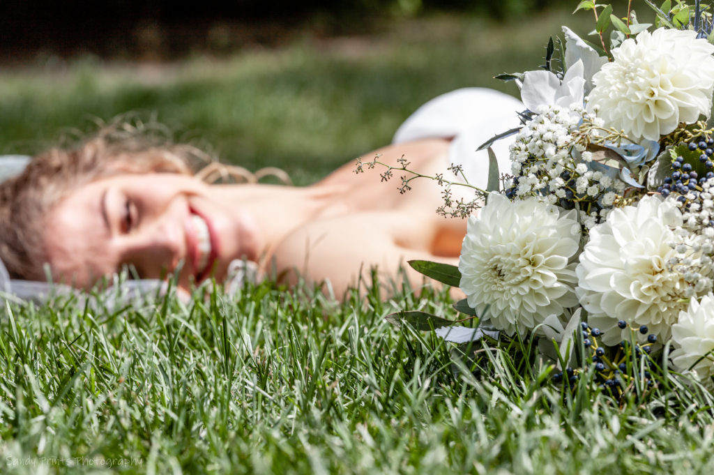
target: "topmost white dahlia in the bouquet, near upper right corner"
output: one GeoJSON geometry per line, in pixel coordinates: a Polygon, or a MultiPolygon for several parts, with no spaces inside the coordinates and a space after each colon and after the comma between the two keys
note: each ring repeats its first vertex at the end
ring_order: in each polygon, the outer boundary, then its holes
{"type": "Polygon", "coordinates": [[[615,60],[593,76],[588,109],[630,139],[658,141],[680,122],[709,115],[714,46],[690,30],[643,31],[613,49],[615,60]]]}

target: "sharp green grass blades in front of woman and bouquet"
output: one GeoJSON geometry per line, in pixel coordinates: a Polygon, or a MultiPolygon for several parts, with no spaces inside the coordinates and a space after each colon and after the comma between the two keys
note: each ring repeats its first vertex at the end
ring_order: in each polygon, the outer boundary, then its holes
{"type": "Polygon", "coordinates": [[[10,304],[0,472],[711,473],[709,396],[619,407],[583,378],[573,400],[547,366],[498,352],[477,379],[441,340],[383,319],[453,318],[448,304],[269,283],[188,305],[10,304]]]}

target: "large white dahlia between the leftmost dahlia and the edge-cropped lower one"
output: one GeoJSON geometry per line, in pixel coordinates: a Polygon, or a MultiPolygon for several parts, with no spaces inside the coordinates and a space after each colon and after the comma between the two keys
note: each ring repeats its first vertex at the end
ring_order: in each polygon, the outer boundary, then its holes
{"type": "Polygon", "coordinates": [[[629,339],[629,329],[618,328],[618,320],[646,325],[660,341],[669,338],[670,326],[685,308],[681,299],[687,284],[667,269],[676,256],[669,245],[674,239],[670,226],[681,224],[676,206],[645,196],[637,206],[614,209],[607,221],[590,229],[575,293],[590,325],[603,331],[604,344],[629,339]]]}

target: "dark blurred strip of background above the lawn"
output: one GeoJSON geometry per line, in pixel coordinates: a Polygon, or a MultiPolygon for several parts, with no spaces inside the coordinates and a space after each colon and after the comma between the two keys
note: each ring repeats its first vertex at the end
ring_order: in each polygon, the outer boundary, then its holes
{"type": "Polygon", "coordinates": [[[574,0],[0,0],[0,56],[36,54],[176,56],[195,49],[274,43],[285,29],[320,34],[369,31],[375,18],[433,11],[524,16],[545,6],[575,8],[574,0]],[[238,30],[231,39],[228,29],[238,30]],[[366,29],[367,28],[367,29],[366,29]],[[239,35],[240,36],[240,35],[239,35]],[[228,41],[230,40],[230,41],[228,41]]]}

